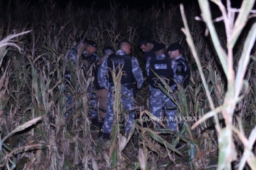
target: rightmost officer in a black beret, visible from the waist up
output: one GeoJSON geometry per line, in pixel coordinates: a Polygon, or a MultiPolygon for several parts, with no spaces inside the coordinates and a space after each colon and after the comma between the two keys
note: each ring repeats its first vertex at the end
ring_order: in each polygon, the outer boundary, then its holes
{"type": "Polygon", "coordinates": [[[187,60],[180,54],[180,44],[177,42],[171,43],[167,51],[173,62],[175,82],[185,89],[190,83],[191,73],[187,60]]]}

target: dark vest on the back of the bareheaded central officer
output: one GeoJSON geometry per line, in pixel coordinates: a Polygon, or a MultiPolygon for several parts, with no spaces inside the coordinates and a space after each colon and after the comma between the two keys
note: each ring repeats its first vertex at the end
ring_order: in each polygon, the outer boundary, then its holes
{"type": "Polygon", "coordinates": [[[114,69],[113,66],[115,66],[116,69],[116,74],[119,73],[118,66],[122,67],[122,71],[124,72],[122,74],[121,78],[121,84],[132,84],[134,83],[134,73],[132,73],[132,56],[130,55],[109,55],[107,58],[107,67],[110,69],[109,70],[109,83],[113,84],[113,77],[111,74],[111,70],[114,69]]]}

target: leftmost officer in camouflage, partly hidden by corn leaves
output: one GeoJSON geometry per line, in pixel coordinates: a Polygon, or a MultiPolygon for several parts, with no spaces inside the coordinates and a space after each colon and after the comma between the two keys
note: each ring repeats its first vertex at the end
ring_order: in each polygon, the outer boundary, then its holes
{"type": "MultiPolygon", "coordinates": [[[[87,39],[85,38],[85,36],[80,36],[77,40],[76,40],[76,45],[74,45],[74,47],[72,47],[70,53],[68,54],[68,56],[66,57],[66,71],[65,71],[65,79],[66,79],[66,125],[68,126],[68,123],[70,121],[70,113],[74,112],[74,108],[71,107],[72,105],[72,99],[73,99],[73,95],[70,93],[69,91],[69,86],[72,86],[72,82],[71,82],[71,75],[75,75],[75,74],[71,74],[72,71],[76,70],[77,66],[77,61],[79,56],[83,55],[85,49],[87,46],[87,39]],[[71,110],[69,110],[71,107],[71,110]]],[[[74,78],[72,78],[72,80],[74,80],[74,78]]],[[[76,79],[75,79],[76,80],[76,79]]]]}

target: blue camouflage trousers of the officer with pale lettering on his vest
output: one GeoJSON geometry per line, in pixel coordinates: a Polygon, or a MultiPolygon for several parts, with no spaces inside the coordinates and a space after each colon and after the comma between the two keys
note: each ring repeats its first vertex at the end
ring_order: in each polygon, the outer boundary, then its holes
{"type": "MultiPolygon", "coordinates": [[[[174,88],[171,89],[173,90],[174,88]]],[[[171,95],[171,98],[173,99],[173,95],[171,95]]],[[[177,122],[175,120],[175,117],[177,117],[177,109],[167,109],[167,107],[176,107],[176,104],[173,103],[162,90],[150,86],[150,113],[160,120],[164,119],[164,117],[162,117],[163,106],[165,108],[167,128],[177,130],[177,122]]]]}

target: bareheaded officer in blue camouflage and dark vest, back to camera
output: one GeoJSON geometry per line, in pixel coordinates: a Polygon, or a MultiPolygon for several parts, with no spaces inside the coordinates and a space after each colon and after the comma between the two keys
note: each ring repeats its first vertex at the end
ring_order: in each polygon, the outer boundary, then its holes
{"type": "MultiPolygon", "coordinates": [[[[132,110],[134,108],[135,104],[132,99],[134,99],[133,95],[133,83],[134,80],[137,81],[137,88],[141,88],[143,85],[144,79],[142,75],[141,68],[139,67],[139,63],[137,61],[137,58],[134,56],[131,56],[131,43],[127,40],[122,40],[119,43],[119,50],[112,55],[109,55],[109,57],[104,60],[102,63],[102,66],[100,66],[100,69],[98,71],[98,82],[101,84],[103,88],[106,88],[106,90],[109,91],[107,95],[107,112],[106,112],[106,118],[104,121],[104,125],[102,127],[102,136],[100,138],[103,139],[109,139],[111,128],[113,126],[113,119],[114,119],[114,111],[113,111],[113,77],[111,75],[111,72],[109,72],[109,86],[107,86],[107,80],[106,80],[106,73],[109,70],[113,70],[113,68],[117,68],[120,64],[122,67],[122,71],[125,72],[125,75],[122,75],[121,78],[121,93],[123,94],[121,97],[122,105],[125,110],[132,110]],[[113,66],[114,64],[114,66],[113,66]]],[[[135,112],[130,112],[128,117],[129,120],[126,120],[125,130],[126,133],[129,133],[132,125],[134,123],[134,114],[135,112]]]]}

